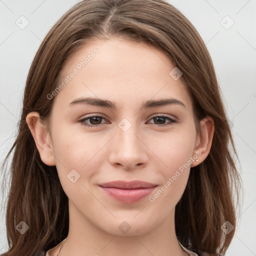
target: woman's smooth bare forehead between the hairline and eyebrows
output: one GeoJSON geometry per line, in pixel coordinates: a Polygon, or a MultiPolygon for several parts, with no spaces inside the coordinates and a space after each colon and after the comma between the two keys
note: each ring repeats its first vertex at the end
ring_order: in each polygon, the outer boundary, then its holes
{"type": "Polygon", "coordinates": [[[60,80],[75,75],[56,97],[71,102],[81,96],[96,96],[121,106],[122,101],[135,104],[136,100],[168,96],[186,102],[189,108],[190,95],[181,79],[171,75],[173,68],[170,57],[149,43],[116,37],[94,40],[67,59],[60,80]]]}

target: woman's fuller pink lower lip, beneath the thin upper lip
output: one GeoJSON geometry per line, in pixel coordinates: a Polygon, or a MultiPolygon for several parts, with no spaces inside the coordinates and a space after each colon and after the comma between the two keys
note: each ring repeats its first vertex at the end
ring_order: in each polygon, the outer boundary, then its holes
{"type": "Polygon", "coordinates": [[[121,189],[115,187],[103,187],[100,186],[104,192],[109,195],[110,197],[125,203],[132,203],[137,202],[150,193],[156,188],[153,187],[143,187],[143,188],[136,188],[136,189],[121,189]]]}

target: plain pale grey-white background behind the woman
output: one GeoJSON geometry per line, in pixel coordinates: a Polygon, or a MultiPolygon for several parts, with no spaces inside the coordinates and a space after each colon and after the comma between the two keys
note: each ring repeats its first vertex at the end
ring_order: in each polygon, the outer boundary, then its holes
{"type": "MultiPolygon", "coordinates": [[[[25,79],[34,54],[50,27],[76,2],[0,0],[1,162],[17,132],[25,79]],[[22,15],[29,22],[23,29],[15,23],[22,15]]],[[[241,214],[226,255],[256,255],[256,0],[169,0],[169,3],[191,21],[209,50],[241,163],[238,165],[244,187],[241,214]]],[[[0,205],[0,253],[7,249],[3,207],[0,205]]]]}

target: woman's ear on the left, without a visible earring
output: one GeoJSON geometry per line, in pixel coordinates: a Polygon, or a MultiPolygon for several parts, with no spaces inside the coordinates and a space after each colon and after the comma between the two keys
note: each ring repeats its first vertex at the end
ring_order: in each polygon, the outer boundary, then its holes
{"type": "Polygon", "coordinates": [[[50,133],[47,127],[42,124],[39,113],[28,113],[26,116],[26,123],[32,133],[41,160],[47,165],[55,165],[50,133]]]}

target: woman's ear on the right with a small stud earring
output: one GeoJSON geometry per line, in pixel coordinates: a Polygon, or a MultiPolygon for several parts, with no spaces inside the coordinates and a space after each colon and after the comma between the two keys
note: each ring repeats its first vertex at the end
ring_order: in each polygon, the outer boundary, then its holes
{"type": "Polygon", "coordinates": [[[200,120],[201,135],[196,138],[194,154],[197,155],[197,161],[192,161],[191,167],[201,163],[208,155],[211,147],[212,137],[214,133],[214,120],[211,116],[206,116],[200,120]]]}

